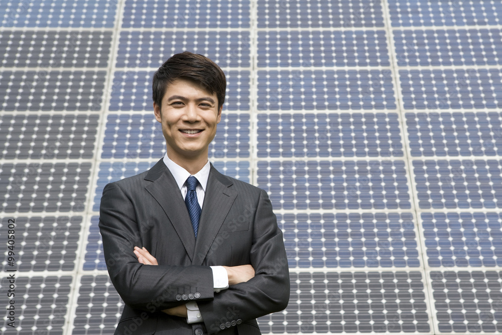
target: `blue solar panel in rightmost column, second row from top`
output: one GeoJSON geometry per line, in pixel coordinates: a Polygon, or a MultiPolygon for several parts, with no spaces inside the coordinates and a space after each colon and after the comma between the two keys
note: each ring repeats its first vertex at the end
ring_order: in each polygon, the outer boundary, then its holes
{"type": "Polygon", "coordinates": [[[396,30],[399,66],[499,65],[500,29],[396,30]]]}

